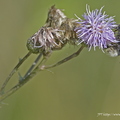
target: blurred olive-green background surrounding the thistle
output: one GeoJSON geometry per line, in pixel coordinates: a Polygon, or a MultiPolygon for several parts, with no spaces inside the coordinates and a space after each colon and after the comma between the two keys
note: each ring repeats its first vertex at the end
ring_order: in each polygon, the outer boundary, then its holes
{"type": "MultiPolygon", "coordinates": [[[[0,85],[27,52],[26,41],[42,25],[51,5],[64,9],[69,18],[79,17],[86,4],[91,9],[104,7],[120,23],[120,0],[0,0],[0,85]]],[[[67,45],[54,51],[52,64],[78,47],[67,45]]],[[[23,64],[22,75],[36,55],[23,64]]],[[[11,80],[15,84],[16,74],[11,80]]],[[[119,120],[120,57],[111,58],[101,50],[84,49],[75,59],[49,71],[42,71],[15,94],[4,100],[0,120],[119,120]]]]}

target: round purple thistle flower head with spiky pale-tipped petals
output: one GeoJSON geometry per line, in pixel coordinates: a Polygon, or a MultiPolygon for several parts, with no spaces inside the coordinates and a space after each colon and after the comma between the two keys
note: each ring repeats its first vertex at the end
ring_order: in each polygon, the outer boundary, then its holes
{"type": "Polygon", "coordinates": [[[113,17],[109,17],[102,13],[103,7],[98,10],[90,11],[90,7],[86,5],[87,13],[84,13],[84,20],[78,17],[80,22],[78,27],[75,28],[79,44],[84,42],[89,50],[91,47],[94,49],[98,46],[101,50],[107,48],[111,43],[117,43],[113,28],[117,27],[113,17]]]}

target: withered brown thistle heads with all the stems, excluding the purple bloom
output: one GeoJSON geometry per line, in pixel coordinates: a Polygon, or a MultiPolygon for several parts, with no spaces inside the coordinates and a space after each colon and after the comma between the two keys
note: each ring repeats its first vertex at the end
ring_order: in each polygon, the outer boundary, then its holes
{"type": "Polygon", "coordinates": [[[42,26],[32,37],[27,40],[27,48],[29,52],[18,62],[12,72],[9,74],[0,89],[0,101],[3,101],[8,96],[16,92],[20,87],[27,83],[38,71],[49,69],[61,65],[74,57],[77,57],[85,47],[84,44],[70,56],[56,62],[52,65],[45,65],[50,55],[54,50],[61,50],[67,43],[77,45],[78,39],[74,31],[78,25],[76,19],[67,18],[64,13],[52,6],[48,12],[48,18],[44,26],[42,26]],[[23,62],[31,55],[38,54],[37,58],[30,66],[26,74],[21,77],[19,75],[19,82],[8,91],[5,91],[9,80],[22,65],[23,62]],[[42,59],[40,61],[40,59],[42,59]],[[40,61],[40,62],[39,62],[40,61]],[[39,62],[39,63],[38,63],[39,62]],[[37,64],[38,63],[38,64],[37,64]]]}

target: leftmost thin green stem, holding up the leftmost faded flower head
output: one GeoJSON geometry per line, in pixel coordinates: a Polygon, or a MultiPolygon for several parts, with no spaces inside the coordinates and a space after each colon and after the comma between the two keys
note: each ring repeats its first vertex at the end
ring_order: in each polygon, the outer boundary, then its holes
{"type": "Polygon", "coordinates": [[[22,65],[22,63],[31,55],[31,52],[28,52],[20,61],[18,64],[14,67],[12,72],[9,74],[9,76],[6,78],[5,82],[3,83],[1,89],[0,89],[0,94],[4,91],[7,83],[9,82],[10,78],[13,76],[13,74],[18,70],[18,68],[22,65]]]}

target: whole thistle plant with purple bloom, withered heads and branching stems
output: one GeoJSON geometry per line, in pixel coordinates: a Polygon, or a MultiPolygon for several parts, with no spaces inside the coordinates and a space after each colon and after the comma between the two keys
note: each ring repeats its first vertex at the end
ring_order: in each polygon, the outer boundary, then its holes
{"type": "MultiPolygon", "coordinates": [[[[110,48],[119,50],[119,29],[114,22],[113,17],[102,13],[103,7],[98,10],[90,11],[86,6],[83,15],[84,20],[68,18],[60,9],[52,6],[48,12],[48,17],[44,26],[42,26],[34,35],[27,40],[29,52],[18,62],[0,89],[0,101],[4,100],[20,87],[33,78],[37,72],[61,65],[68,60],[78,56],[84,47],[89,50],[93,47],[108,50],[110,48]],[[113,31],[116,29],[117,32],[113,31]],[[70,56],[52,64],[45,65],[54,50],[61,50],[66,44],[79,46],[80,48],[70,56]],[[114,47],[117,46],[117,47],[114,47]],[[18,70],[23,62],[31,55],[38,54],[36,60],[30,66],[28,71],[22,77],[19,75],[18,83],[11,89],[6,90],[6,86],[13,74],[18,70]],[[40,60],[41,59],[41,60],[40,60]]],[[[108,50],[109,52],[110,50],[108,50]]],[[[110,52],[109,52],[110,53],[110,52]]],[[[119,55],[119,54],[118,54],[119,55]]]]}

